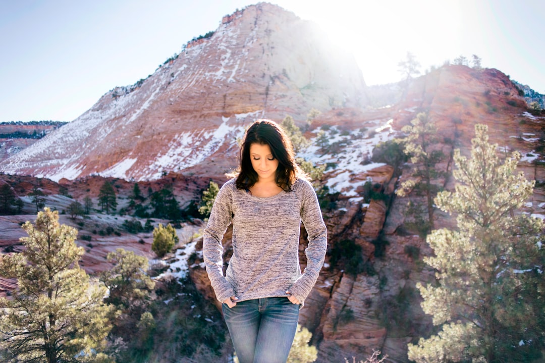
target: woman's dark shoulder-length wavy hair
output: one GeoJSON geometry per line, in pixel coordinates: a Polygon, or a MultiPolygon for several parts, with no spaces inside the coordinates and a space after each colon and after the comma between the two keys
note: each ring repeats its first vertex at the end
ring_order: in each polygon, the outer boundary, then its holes
{"type": "Polygon", "coordinates": [[[237,188],[250,189],[259,179],[250,160],[250,145],[253,143],[270,147],[272,156],[278,160],[276,184],[284,191],[292,191],[295,179],[304,175],[295,163],[292,142],[277,123],[267,119],[257,120],[246,131],[244,142],[240,146],[240,170],[235,180],[237,188]]]}

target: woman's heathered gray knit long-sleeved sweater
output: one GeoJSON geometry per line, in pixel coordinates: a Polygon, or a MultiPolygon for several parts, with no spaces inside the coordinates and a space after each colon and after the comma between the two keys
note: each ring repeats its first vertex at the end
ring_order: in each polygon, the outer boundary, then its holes
{"type": "Polygon", "coordinates": [[[297,179],[290,192],[260,198],[237,189],[234,179],[218,193],[204,229],[203,257],[216,298],[224,301],[287,296],[301,304],[324,263],[327,230],[312,185],[297,179]],[[301,221],[308,233],[307,265],[299,267],[301,221]],[[222,273],[221,240],[233,223],[233,256],[222,273]]]}

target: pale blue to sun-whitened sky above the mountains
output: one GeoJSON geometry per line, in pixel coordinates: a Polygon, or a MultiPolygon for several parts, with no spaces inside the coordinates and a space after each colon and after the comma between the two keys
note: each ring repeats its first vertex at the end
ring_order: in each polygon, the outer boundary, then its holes
{"type": "MultiPolygon", "coordinates": [[[[250,0],[0,0],[0,122],[71,121],[250,0]]],[[[277,0],[350,49],[368,85],[476,54],[545,93],[545,1],[277,0]]]]}

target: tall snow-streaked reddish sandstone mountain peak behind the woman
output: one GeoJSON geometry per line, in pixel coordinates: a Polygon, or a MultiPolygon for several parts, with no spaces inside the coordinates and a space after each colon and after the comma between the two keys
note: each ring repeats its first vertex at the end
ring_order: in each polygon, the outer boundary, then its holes
{"type": "Polygon", "coordinates": [[[314,23],[276,5],[225,16],[210,34],[187,43],[145,80],[112,89],[74,121],[1,162],[0,171],[52,180],[216,175],[233,167],[236,139],[257,118],[289,114],[301,121],[312,108],[366,104],[354,58],[314,23]]]}

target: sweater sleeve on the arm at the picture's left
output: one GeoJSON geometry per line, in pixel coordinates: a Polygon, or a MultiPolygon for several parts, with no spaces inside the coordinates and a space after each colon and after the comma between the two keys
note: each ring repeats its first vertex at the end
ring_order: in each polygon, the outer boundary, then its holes
{"type": "Polygon", "coordinates": [[[217,300],[223,302],[235,295],[233,286],[223,276],[223,234],[232,220],[232,189],[229,181],[225,183],[214,202],[214,206],[204,229],[203,259],[211,285],[216,293],[217,300]]]}

